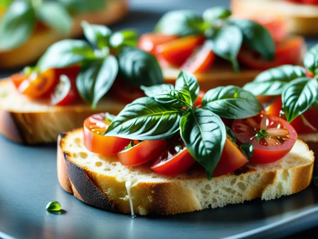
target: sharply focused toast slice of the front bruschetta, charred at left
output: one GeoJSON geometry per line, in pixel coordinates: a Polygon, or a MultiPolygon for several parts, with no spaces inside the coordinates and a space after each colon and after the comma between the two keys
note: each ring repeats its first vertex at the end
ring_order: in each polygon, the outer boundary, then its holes
{"type": "Polygon", "coordinates": [[[305,189],[311,181],[314,154],[301,140],[281,160],[207,180],[189,170],[174,177],[151,171],[149,165],[127,167],[116,156],[105,157],[83,145],[83,129],[61,134],[57,171],[60,185],[85,203],[113,212],[176,214],[223,207],[246,200],[279,198],[305,189]],[[129,185],[131,184],[131,187],[129,185]],[[127,185],[127,187],[126,187],[127,185]]]}

